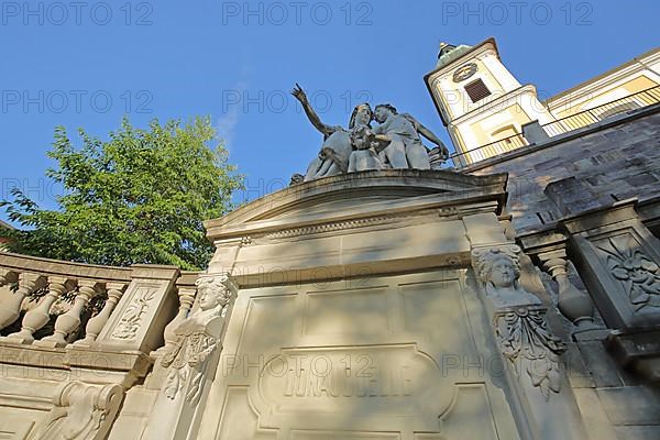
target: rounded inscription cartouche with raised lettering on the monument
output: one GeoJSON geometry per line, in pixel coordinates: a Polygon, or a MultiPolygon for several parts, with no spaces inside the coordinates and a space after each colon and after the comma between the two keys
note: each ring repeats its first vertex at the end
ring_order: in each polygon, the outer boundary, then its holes
{"type": "Polygon", "coordinates": [[[353,416],[369,408],[381,426],[393,426],[389,418],[396,415],[419,430],[432,430],[453,389],[415,344],[327,346],[283,350],[265,365],[252,398],[271,408],[274,417],[266,421],[297,416],[306,428],[332,428],[338,420],[362,427],[363,420],[353,416]]]}

